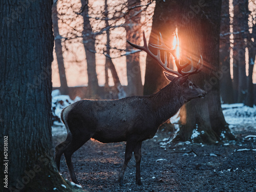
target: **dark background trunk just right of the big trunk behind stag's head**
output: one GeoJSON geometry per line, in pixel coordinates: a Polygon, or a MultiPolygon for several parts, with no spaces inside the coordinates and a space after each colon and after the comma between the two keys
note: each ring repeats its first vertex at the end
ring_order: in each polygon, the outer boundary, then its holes
{"type": "Polygon", "coordinates": [[[230,18],[229,0],[222,1],[221,12],[221,37],[220,37],[220,93],[223,103],[233,103],[233,87],[230,76],[230,18]]]}

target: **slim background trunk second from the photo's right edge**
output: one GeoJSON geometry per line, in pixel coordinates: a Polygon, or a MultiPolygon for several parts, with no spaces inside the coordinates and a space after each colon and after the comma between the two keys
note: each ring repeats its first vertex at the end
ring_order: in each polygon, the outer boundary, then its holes
{"type": "Polygon", "coordinates": [[[233,0],[233,65],[238,66],[238,100],[245,102],[246,70],[245,70],[245,38],[248,37],[248,0],[233,0]]]}

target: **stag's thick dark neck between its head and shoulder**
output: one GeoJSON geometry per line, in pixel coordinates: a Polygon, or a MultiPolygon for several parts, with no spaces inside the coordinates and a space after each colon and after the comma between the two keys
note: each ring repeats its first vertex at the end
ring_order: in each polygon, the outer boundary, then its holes
{"type": "Polygon", "coordinates": [[[185,103],[181,95],[181,87],[174,81],[153,95],[154,110],[158,123],[162,124],[174,116],[185,103]]]}

